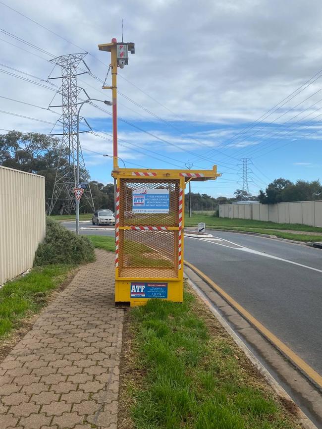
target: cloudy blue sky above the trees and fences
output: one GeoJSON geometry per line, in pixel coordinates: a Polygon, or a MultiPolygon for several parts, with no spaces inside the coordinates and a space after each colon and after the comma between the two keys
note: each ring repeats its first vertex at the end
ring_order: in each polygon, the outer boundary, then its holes
{"type": "MultiPolygon", "coordinates": [[[[245,158],[254,195],[278,177],[322,179],[316,0],[0,1],[0,133],[60,132],[61,108],[48,110],[61,104],[59,79],[48,80],[60,75],[50,62],[59,55],[87,52],[91,73],[78,86],[110,100],[102,89],[110,58],[97,45],[121,40],[122,18],[124,42],[135,43],[118,70],[126,167],[217,164],[220,178],[192,184],[192,192],[214,197],[242,188],[245,158]]],[[[85,70],[81,63],[78,73],[85,70]]],[[[102,106],[106,111],[83,107],[95,134],[80,138],[91,179],[110,183],[112,162],[103,154],[112,154],[111,108],[102,106]]]]}

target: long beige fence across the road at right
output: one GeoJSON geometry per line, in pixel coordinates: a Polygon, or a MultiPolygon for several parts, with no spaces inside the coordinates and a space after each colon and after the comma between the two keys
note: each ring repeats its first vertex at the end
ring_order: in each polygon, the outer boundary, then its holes
{"type": "Polygon", "coordinates": [[[322,227],[322,201],[295,201],[277,204],[222,204],[219,217],[301,223],[322,227]]]}

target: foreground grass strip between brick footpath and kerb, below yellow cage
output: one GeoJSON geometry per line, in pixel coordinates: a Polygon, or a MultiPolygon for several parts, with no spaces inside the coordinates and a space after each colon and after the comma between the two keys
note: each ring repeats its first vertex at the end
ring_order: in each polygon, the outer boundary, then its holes
{"type": "Polygon", "coordinates": [[[218,328],[210,335],[194,302],[185,293],[182,304],[150,300],[130,312],[124,395],[134,428],[296,428],[232,340],[218,328]]]}

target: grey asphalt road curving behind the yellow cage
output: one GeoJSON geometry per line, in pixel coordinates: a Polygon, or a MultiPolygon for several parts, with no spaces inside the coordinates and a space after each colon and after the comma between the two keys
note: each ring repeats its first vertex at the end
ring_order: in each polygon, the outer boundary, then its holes
{"type": "MultiPolygon", "coordinates": [[[[75,223],[63,224],[75,229],[75,223]]],[[[81,233],[114,235],[113,229],[81,233]]],[[[260,236],[212,234],[211,241],[186,237],[185,260],[322,374],[322,250],[260,236]]]]}

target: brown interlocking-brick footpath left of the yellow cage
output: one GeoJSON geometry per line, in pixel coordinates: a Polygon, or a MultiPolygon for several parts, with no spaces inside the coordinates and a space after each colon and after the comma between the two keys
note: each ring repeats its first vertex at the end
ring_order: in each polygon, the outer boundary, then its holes
{"type": "Polygon", "coordinates": [[[124,311],[96,253],[0,365],[0,429],[116,429],[124,311]]]}

